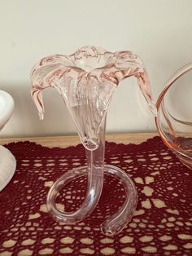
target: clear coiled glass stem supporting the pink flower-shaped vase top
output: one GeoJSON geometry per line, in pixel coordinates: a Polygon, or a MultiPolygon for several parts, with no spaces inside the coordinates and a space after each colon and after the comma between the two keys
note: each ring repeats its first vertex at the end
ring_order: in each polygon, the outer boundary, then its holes
{"type": "Polygon", "coordinates": [[[98,204],[103,189],[103,173],[105,172],[106,174],[115,176],[115,178],[120,179],[121,183],[124,185],[125,200],[120,210],[110,218],[107,218],[101,226],[102,232],[110,236],[120,232],[129,222],[137,205],[137,192],[133,182],[123,170],[115,166],[104,166],[105,123],[106,121],[104,120],[100,129],[100,143],[98,148],[93,151],[86,149],[87,167],[72,169],[66,174],[63,174],[63,176],[54,183],[52,188],[50,188],[50,192],[47,196],[47,206],[50,214],[52,214],[55,219],[65,224],[80,222],[91,214],[98,204]],[[75,212],[59,210],[55,203],[59,191],[73,179],[78,179],[85,175],[88,178],[88,184],[85,200],[81,208],[75,212]]]}

